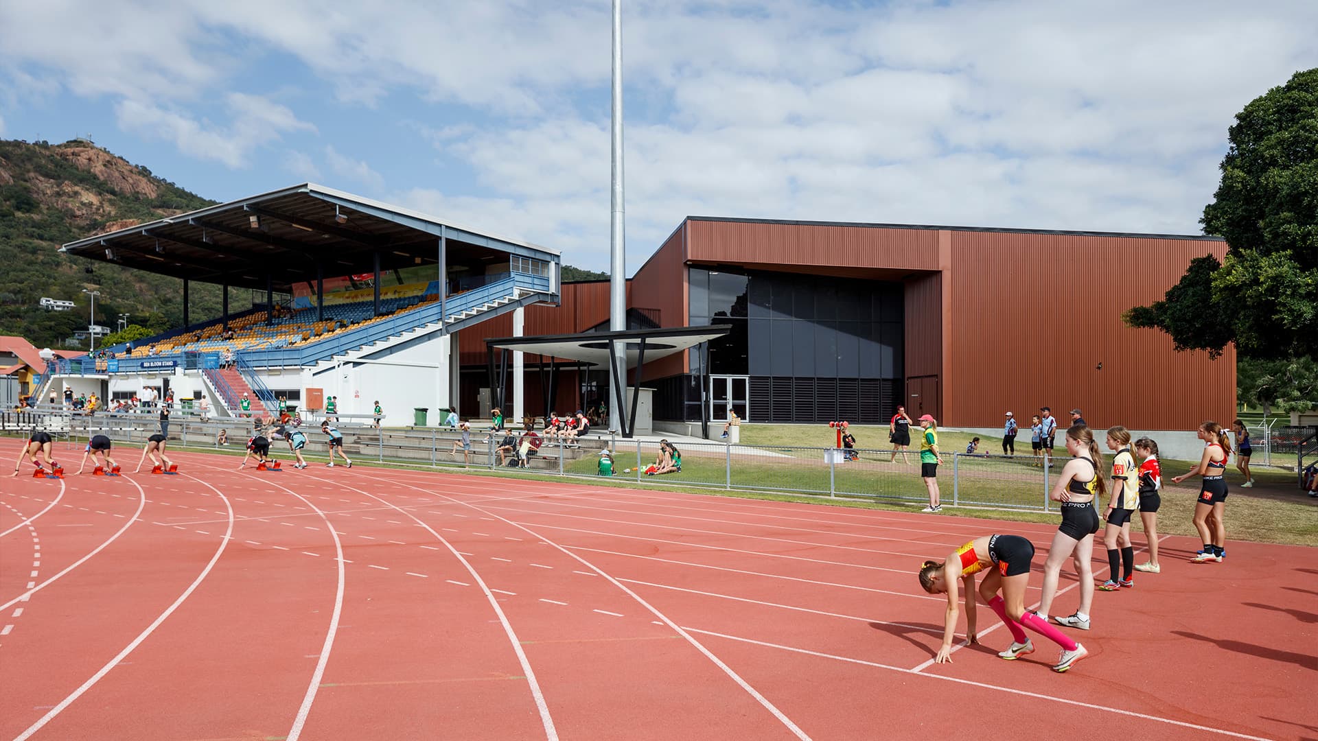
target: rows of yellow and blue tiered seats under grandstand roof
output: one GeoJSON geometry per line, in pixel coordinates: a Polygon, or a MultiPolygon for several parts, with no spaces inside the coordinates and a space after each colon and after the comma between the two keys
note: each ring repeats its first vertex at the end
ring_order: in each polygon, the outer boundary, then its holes
{"type": "Polygon", "coordinates": [[[173,355],[178,352],[223,352],[225,349],[270,349],[298,347],[333,336],[337,332],[365,327],[419,306],[439,301],[435,295],[390,298],[380,302],[380,316],[373,316],[369,301],[326,306],[324,319],[316,320],[315,309],[282,310],[272,324],[266,324],[264,311],[248,314],[229,322],[233,339],[223,339],[224,323],[215,322],[194,332],[149,343],[142,340],[130,357],[173,355]]]}

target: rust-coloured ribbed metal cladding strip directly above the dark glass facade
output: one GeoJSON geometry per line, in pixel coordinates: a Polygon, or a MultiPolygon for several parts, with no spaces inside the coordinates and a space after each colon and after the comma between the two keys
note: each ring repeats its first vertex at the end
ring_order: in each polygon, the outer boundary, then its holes
{"type": "Polygon", "coordinates": [[[692,216],[687,260],[708,264],[937,270],[937,229],[692,216]]]}

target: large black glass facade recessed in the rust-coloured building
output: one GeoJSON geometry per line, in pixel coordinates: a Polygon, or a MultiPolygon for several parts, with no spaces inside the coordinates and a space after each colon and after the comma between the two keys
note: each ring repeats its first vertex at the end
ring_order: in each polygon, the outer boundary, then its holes
{"type": "Polygon", "coordinates": [[[887,418],[903,378],[902,283],[702,268],[689,281],[691,324],[733,330],[710,343],[708,369],[692,352],[691,376],[664,384],[683,409],[656,414],[700,419],[708,373],[750,377],[754,422],[887,418]]]}

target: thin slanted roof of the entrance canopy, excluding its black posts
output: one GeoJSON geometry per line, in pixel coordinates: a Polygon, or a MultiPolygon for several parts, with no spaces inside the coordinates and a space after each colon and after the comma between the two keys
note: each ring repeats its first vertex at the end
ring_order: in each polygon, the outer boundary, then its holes
{"type": "Polygon", "coordinates": [[[609,355],[616,341],[625,341],[627,368],[681,352],[700,343],[721,338],[731,331],[729,324],[680,327],[671,330],[629,330],[623,332],[583,332],[579,335],[540,335],[536,338],[488,339],[493,348],[532,352],[547,357],[575,360],[592,368],[609,367],[609,355]],[[643,355],[642,355],[643,353],[643,355]],[[642,360],[643,357],[643,360],[642,360]]]}

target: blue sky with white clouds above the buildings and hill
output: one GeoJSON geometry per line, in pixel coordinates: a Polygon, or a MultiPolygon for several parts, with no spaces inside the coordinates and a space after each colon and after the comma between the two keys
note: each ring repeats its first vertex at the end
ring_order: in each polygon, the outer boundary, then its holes
{"type": "MultiPolygon", "coordinates": [[[[1198,232],[1318,3],[625,0],[627,269],[685,215],[1198,232]]],[[[609,3],[0,4],[0,137],[608,268],[609,3]]]]}

